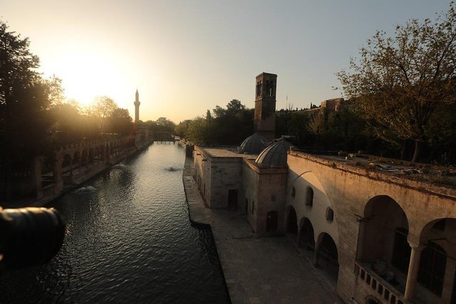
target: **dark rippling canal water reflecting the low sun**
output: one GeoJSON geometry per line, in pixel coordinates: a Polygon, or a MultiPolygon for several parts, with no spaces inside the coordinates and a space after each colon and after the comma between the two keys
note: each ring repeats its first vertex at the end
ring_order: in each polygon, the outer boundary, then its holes
{"type": "Polygon", "coordinates": [[[66,221],[45,266],[0,274],[0,303],[229,303],[209,229],[188,219],[185,150],[147,150],[53,201],[66,221]]]}

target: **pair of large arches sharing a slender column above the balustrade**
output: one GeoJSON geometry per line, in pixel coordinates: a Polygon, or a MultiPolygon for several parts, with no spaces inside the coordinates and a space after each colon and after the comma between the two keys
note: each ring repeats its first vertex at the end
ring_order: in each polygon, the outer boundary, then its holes
{"type": "Polygon", "coordinates": [[[416,241],[409,230],[419,229],[410,226],[409,209],[404,208],[386,195],[368,201],[360,219],[358,263],[363,271],[379,277],[376,284],[389,300],[455,303],[456,219],[430,221],[416,241]],[[400,290],[403,295],[393,295],[390,290],[400,290]]]}

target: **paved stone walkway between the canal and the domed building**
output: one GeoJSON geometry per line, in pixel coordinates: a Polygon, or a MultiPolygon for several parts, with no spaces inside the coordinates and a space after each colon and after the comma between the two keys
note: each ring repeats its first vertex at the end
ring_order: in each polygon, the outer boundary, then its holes
{"type": "Polygon", "coordinates": [[[209,224],[232,303],[343,303],[335,282],[309,262],[290,237],[256,238],[240,211],[204,207],[185,160],[183,181],[190,220],[209,224]]]}

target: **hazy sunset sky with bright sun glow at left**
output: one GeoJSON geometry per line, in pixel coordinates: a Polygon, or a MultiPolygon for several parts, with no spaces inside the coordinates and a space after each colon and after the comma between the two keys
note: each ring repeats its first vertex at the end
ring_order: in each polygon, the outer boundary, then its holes
{"type": "Polygon", "coordinates": [[[179,123],[232,99],[254,108],[255,77],[277,74],[276,108],[343,95],[336,73],[377,30],[435,17],[449,0],[0,0],[45,77],[81,105],[113,98],[140,120],[179,123]],[[287,99],[288,98],[288,99],[287,99]]]}

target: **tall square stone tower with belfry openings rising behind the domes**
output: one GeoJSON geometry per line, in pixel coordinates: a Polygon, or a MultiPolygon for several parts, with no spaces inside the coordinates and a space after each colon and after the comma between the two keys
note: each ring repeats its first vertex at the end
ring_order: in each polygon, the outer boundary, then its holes
{"type": "Polygon", "coordinates": [[[255,90],[255,132],[274,140],[276,127],[277,75],[261,73],[257,76],[255,90]]]}

